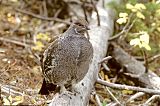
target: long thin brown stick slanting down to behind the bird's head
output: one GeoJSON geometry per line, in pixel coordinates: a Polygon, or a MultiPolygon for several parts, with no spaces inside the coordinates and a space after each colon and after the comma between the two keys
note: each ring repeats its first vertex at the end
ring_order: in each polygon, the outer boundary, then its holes
{"type": "Polygon", "coordinates": [[[18,8],[16,8],[15,10],[18,11],[18,12],[21,12],[21,13],[23,13],[23,14],[27,14],[27,15],[30,15],[30,16],[32,16],[32,17],[38,18],[38,19],[43,19],[43,20],[48,20],[48,21],[57,21],[57,22],[61,22],[61,23],[68,24],[68,25],[71,24],[70,22],[61,20],[61,19],[59,19],[59,18],[55,18],[55,17],[54,17],[54,18],[51,18],[51,17],[43,17],[43,16],[41,16],[41,15],[37,15],[37,14],[34,14],[34,13],[32,13],[32,12],[29,12],[29,11],[26,11],[26,10],[21,10],[21,9],[18,9],[18,8]]]}

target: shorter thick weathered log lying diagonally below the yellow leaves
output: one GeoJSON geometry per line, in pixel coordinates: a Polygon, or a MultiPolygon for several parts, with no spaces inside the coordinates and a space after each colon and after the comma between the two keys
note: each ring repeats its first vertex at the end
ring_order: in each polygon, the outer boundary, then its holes
{"type": "Polygon", "coordinates": [[[136,76],[142,86],[151,89],[160,90],[160,77],[154,72],[145,73],[143,63],[137,61],[120,47],[115,46],[113,50],[113,57],[126,68],[126,71],[133,76],[136,76]]]}

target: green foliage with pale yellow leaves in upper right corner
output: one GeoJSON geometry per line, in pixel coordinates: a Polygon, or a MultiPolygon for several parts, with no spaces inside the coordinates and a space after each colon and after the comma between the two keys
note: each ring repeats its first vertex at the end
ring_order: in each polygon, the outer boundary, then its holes
{"type": "Polygon", "coordinates": [[[142,4],[137,0],[127,0],[120,6],[113,5],[113,7],[118,12],[116,22],[119,27],[123,27],[129,20],[130,24],[133,24],[126,37],[130,45],[138,46],[139,49],[145,48],[145,50],[150,50],[150,53],[160,51],[158,43],[160,40],[160,4],[154,1],[142,4]]]}

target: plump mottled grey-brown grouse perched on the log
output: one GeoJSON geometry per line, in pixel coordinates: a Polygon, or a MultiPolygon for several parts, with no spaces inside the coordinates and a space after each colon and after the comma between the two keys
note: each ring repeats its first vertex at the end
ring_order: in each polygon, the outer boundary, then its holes
{"type": "Polygon", "coordinates": [[[41,58],[44,79],[40,94],[48,95],[57,86],[60,93],[67,91],[68,86],[73,91],[85,77],[93,58],[93,46],[85,36],[88,30],[87,21],[78,19],[50,43],[41,58]]]}

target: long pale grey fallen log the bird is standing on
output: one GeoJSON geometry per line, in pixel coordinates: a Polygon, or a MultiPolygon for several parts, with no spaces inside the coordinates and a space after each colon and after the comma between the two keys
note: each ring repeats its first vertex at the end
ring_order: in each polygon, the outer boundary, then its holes
{"type": "MultiPolygon", "coordinates": [[[[105,4],[110,0],[105,0],[105,4]]],[[[108,38],[113,33],[114,12],[109,8],[103,8],[102,1],[96,6],[100,16],[101,26],[97,26],[96,13],[92,13],[89,31],[90,41],[94,48],[94,56],[89,71],[85,78],[76,85],[76,95],[64,92],[53,97],[50,106],[86,106],[89,103],[90,93],[98,77],[100,62],[106,55],[108,38]],[[83,84],[82,84],[83,83],[83,84]]]]}

